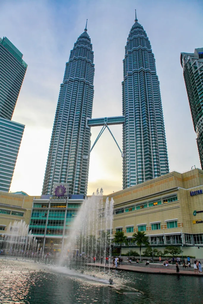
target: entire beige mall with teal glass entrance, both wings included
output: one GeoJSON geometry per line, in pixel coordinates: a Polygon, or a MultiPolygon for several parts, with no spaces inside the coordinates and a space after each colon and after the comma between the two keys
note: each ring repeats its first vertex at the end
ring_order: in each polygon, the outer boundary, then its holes
{"type": "MultiPolygon", "coordinates": [[[[122,253],[129,247],[138,251],[132,234],[145,231],[150,245],[159,250],[183,246],[184,255],[203,258],[202,170],[173,171],[108,197],[114,199],[112,236],[123,231],[129,240],[122,253]]],[[[23,219],[45,252],[60,251],[82,202],[83,197],[75,195],[59,200],[0,192],[1,239],[9,233],[10,222],[23,219]]]]}

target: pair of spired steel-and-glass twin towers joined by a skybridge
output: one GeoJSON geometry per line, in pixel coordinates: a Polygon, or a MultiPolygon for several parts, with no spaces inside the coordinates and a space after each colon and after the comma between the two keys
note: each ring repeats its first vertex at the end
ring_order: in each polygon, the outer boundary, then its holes
{"type": "Polygon", "coordinates": [[[169,172],[154,54],[136,16],[123,60],[123,116],[92,119],[93,61],[91,39],[85,28],[65,66],[42,194],[52,194],[55,183],[68,183],[70,194],[86,195],[93,126],[102,126],[99,138],[109,125],[123,124],[123,188],[169,172]]]}

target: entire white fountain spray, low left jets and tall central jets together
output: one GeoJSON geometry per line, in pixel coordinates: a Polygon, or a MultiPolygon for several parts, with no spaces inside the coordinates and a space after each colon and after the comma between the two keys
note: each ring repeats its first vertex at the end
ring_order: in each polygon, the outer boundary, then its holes
{"type": "MultiPolygon", "coordinates": [[[[102,188],[100,192],[97,189],[95,194],[87,197],[72,222],[60,259],[55,260],[53,265],[59,262],[66,269],[73,268],[82,275],[90,272],[92,276],[96,276],[96,263],[99,262],[99,273],[107,273],[108,270],[110,276],[113,205],[113,199],[107,198],[103,202],[102,188]],[[106,266],[107,256],[109,263],[106,266]],[[102,262],[104,266],[101,268],[102,262]]],[[[4,250],[6,257],[48,264],[48,258],[45,261],[46,256],[37,243],[37,238],[29,231],[29,225],[22,220],[10,223],[0,242],[0,249],[4,250]]],[[[51,265],[51,261],[49,262],[51,265]]]]}

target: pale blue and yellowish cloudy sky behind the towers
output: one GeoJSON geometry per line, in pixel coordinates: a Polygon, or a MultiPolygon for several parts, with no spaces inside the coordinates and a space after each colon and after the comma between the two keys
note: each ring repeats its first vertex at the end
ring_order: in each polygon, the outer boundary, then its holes
{"type": "MultiPolygon", "coordinates": [[[[202,47],[201,0],[0,0],[0,37],[28,64],[12,120],[25,124],[10,191],[40,195],[51,132],[70,50],[87,23],[94,51],[93,118],[122,115],[124,47],[134,24],[144,27],[160,81],[170,171],[201,168],[181,52],[202,47]]],[[[122,150],[122,126],[110,126],[122,150]]],[[[91,128],[94,143],[100,127],[91,128]]],[[[88,194],[122,189],[121,153],[106,129],[90,155],[88,194]]]]}

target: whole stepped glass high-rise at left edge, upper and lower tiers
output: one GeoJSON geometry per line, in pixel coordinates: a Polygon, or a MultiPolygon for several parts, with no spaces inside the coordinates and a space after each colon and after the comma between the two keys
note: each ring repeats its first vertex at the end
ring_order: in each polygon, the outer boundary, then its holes
{"type": "Polygon", "coordinates": [[[0,38],[0,190],[9,191],[24,125],[11,121],[27,64],[23,54],[0,38]]]}

